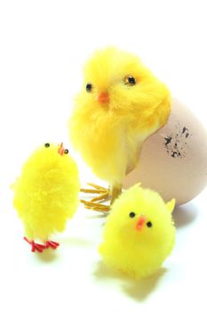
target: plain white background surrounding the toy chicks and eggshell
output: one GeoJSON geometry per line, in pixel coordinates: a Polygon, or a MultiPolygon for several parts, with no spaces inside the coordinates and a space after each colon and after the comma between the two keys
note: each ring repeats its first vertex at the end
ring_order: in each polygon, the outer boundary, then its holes
{"type": "MultiPolygon", "coordinates": [[[[60,249],[32,254],[10,185],[39,144],[68,142],[67,120],[94,49],[137,53],[204,122],[205,1],[0,2],[0,311],[206,311],[206,191],[174,213],[177,243],[160,275],[136,283],[101,265],[105,218],[80,207],[60,249]]],[[[74,154],[75,155],[75,154],[74,154]]],[[[94,181],[76,158],[82,181],[94,181]]]]}

